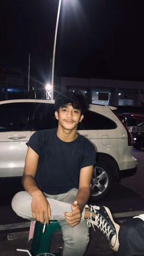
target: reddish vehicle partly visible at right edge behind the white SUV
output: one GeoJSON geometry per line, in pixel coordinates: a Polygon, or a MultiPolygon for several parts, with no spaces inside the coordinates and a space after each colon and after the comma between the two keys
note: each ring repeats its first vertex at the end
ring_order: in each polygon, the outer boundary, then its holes
{"type": "Polygon", "coordinates": [[[144,147],[144,115],[123,113],[120,114],[120,117],[131,131],[134,148],[144,147]]]}

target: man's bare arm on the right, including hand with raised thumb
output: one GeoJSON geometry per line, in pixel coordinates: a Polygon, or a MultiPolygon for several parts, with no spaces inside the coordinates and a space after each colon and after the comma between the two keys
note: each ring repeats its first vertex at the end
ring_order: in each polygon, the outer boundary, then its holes
{"type": "Polygon", "coordinates": [[[71,205],[71,213],[65,213],[65,219],[71,227],[79,224],[81,214],[90,197],[90,182],[93,174],[93,166],[87,166],[81,169],[79,176],[79,190],[76,200],[71,205]]]}

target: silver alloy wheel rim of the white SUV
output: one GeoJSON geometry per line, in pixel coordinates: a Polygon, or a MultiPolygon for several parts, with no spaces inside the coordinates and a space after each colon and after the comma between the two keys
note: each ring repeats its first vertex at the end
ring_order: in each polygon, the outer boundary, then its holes
{"type": "Polygon", "coordinates": [[[109,177],[101,167],[95,167],[93,171],[92,183],[90,185],[90,194],[91,196],[99,196],[103,194],[108,186],[109,177]]]}

